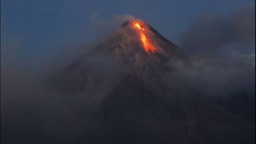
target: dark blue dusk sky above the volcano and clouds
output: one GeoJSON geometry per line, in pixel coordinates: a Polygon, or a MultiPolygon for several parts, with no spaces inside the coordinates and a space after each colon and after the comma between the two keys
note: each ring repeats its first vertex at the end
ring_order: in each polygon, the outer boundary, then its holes
{"type": "Polygon", "coordinates": [[[91,17],[130,14],[178,43],[200,14],[227,16],[255,0],[2,0],[1,56],[10,63],[42,66],[69,43],[95,38],[91,17]]]}

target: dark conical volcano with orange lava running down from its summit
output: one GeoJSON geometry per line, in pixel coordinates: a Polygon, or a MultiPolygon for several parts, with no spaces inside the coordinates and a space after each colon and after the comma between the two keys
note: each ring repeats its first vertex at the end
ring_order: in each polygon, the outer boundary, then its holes
{"type": "Polygon", "coordinates": [[[174,70],[167,63],[177,59],[179,47],[144,21],[129,20],[52,77],[48,85],[73,94],[104,89],[92,128],[72,142],[255,143],[253,125],[198,93],[163,82],[174,70]]]}

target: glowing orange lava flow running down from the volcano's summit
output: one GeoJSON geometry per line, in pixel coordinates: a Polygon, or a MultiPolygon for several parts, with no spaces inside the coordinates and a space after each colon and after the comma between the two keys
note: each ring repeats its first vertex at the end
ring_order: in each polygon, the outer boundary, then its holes
{"type": "Polygon", "coordinates": [[[140,32],[140,40],[141,40],[144,50],[149,54],[155,53],[156,48],[152,44],[150,38],[147,37],[145,29],[140,25],[140,23],[134,22],[133,27],[136,28],[140,32]]]}

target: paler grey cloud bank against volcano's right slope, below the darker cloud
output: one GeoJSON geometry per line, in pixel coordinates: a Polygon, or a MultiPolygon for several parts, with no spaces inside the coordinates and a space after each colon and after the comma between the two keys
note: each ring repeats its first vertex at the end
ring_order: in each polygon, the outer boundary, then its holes
{"type": "Polygon", "coordinates": [[[232,92],[246,90],[255,99],[255,55],[230,54],[226,57],[189,59],[172,63],[176,71],[167,83],[186,87],[209,98],[227,98],[232,92]]]}

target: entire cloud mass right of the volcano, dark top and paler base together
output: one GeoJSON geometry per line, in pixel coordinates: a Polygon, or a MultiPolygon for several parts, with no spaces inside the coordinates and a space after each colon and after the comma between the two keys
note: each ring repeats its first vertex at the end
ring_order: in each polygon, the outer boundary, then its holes
{"type": "Polygon", "coordinates": [[[177,71],[171,77],[212,97],[243,89],[255,99],[255,4],[227,17],[199,16],[180,43],[188,58],[172,63],[177,71]]]}

